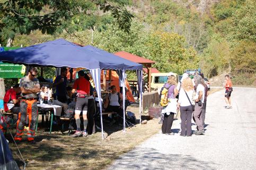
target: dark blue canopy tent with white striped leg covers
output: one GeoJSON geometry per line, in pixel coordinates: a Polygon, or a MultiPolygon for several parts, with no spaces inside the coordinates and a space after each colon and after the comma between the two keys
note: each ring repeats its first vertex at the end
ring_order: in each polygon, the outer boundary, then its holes
{"type": "MultiPolygon", "coordinates": [[[[119,77],[123,82],[125,81],[126,70],[137,70],[139,90],[140,92],[142,91],[142,65],[123,59],[93,46],[80,47],[64,39],[44,42],[17,50],[1,52],[0,61],[32,66],[83,67],[90,69],[99,97],[101,97],[101,69],[117,70],[120,75],[119,77]]],[[[123,92],[125,92],[125,89],[123,89],[123,92]]],[[[125,94],[123,96],[125,96],[125,94]]],[[[140,97],[140,114],[142,112],[141,103],[142,98],[140,97]]],[[[125,106],[124,103],[123,106],[125,106]]],[[[101,102],[100,112],[102,138],[104,138],[101,102]]],[[[125,119],[125,116],[123,118],[125,119]]],[[[125,121],[123,121],[123,131],[125,131],[125,121]]]]}

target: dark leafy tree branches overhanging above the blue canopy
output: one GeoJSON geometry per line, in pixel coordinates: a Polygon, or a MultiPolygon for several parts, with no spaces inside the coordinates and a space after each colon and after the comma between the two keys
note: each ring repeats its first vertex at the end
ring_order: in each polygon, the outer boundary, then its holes
{"type": "Polygon", "coordinates": [[[0,3],[0,36],[2,41],[16,34],[68,33],[86,29],[105,28],[115,21],[119,28],[130,30],[134,17],[126,8],[130,0],[8,0],[0,3]]]}

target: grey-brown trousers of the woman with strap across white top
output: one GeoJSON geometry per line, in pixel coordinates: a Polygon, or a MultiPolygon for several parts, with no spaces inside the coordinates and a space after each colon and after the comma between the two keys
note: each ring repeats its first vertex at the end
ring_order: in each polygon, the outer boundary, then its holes
{"type": "Polygon", "coordinates": [[[189,106],[180,106],[180,119],[181,119],[181,135],[190,136],[191,129],[191,119],[192,119],[192,107],[189,106]]]}

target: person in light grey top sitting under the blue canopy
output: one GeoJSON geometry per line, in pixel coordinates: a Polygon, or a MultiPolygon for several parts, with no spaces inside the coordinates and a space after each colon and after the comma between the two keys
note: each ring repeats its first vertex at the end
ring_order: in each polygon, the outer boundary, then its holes
{"type": "MultiPolygon", "coordinates": [[[[106,96],[106,101],[104,103],[105,111],[116,112],[121,118],[123,117],[123,107],[122,107],[122,94],[117,92],[116,86],[112,85],[110,87],[111,93],[106,96]]],[[[112,123],[116,120],[112,120],[112,123]]]]}

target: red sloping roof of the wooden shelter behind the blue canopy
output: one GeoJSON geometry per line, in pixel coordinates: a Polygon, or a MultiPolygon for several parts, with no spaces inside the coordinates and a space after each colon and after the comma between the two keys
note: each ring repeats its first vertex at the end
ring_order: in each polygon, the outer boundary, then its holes
{"type": "Polygon", "coordinates": [[[154,64],[155,63],[155,61],[133,55],[132,53],[129,53],[126,51],[119,51],[119,52],[115,52],[114,54],[119,57],[125,58],[127,60],[137,62],[139,64],[154,64]]]}

